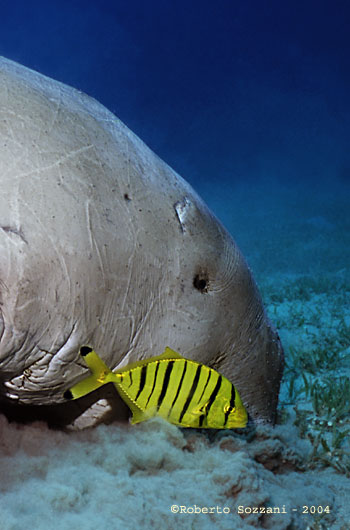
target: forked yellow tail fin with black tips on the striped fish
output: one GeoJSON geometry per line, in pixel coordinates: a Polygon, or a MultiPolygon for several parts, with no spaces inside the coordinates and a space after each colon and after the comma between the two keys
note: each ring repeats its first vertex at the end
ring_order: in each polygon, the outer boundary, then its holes
{"type": "Polygon", "coordinates": [[[84,358],[85,363],[91,371],[91,375],[67,390],[64,393],[66,399],[78,399],[114,380],[113,372],[92,348],[82,346],[80,348],[80,355],[84,358]]]}

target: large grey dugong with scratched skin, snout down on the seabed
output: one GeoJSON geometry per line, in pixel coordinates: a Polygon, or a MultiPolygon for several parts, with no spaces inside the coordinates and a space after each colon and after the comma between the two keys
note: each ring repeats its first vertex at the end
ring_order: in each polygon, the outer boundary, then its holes
{"type": "Polygon", "coordinates": [[[63,403],[81,345],[111,369],[170,346],[274,421],[283,352],[244,258],[118,118],[0,58],[0,184],[3,410],[63,403]]]}

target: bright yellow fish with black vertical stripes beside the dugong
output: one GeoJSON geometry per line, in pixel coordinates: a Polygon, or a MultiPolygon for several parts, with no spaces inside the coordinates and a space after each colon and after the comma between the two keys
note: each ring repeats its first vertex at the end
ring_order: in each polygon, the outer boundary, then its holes
{"type": "Polygon", "coordinates": [[[170,348],[115,372],[88,346],[80,354],[91,375],[67,390],[66,399],[112,382],[133,414],[131,423],[161,416],[180,427],[235,429],[247,424],[247,411],[226,377],[170,348]]]}

